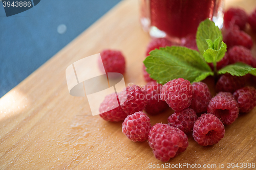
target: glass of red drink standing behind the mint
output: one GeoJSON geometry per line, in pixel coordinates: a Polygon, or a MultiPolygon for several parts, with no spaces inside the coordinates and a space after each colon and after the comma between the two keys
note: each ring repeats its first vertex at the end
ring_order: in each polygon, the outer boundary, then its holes
{"type": "Polygon", "coordinates": [[[152,37],[180,42],[196,35],[206,18],[222,28],[223,0],[140,0],[140,22],[152,37]]]}

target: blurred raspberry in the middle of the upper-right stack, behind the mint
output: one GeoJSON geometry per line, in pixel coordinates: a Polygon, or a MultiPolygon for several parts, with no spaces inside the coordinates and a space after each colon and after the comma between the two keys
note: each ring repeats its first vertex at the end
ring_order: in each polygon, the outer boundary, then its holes
{"type": "Polygon", "coordinates": [[[235,45],[242,45],[251,49],[253,42],[251,37],[243,31],[240,31],[238,26],[230,27],[223,37],[223,41],[230,48],[235,45]]]}

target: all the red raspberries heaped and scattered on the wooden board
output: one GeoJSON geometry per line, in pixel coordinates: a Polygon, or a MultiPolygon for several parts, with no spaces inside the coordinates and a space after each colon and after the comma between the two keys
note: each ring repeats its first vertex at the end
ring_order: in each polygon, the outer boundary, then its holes
{"type": "MultiPolygon", "coordinates": [[[[256,67],[256,59],[250,51],[253,45],[251,37],[242,31],[246,22],[256,32],[256,10],[249,17],[241,9],[231,8],[225,12],[224,42],[228,52],[218,62],[217,69],[236,62],[256,67]]],[[[147,46],[146,56],[155,48],[172,45],[165,38],[153,39],[147,46]]],[[[185,40],[182,45],[197,50],[195,39],[185,40]]],[[[101,59],[106,72],[124,73],[125,60],[121,52],[105,50],[101,59]],[[116,70],[109,70],[114,67],[116,70]]],[[[191,84],[179,78],[161,85],[150,78],[144,65],[143,75],[147,82],[145,86],[133,85],[118,94],[107,95],[99,108],[100,117],[111,122],[122,121],[123,134],[134,142],[148,140],[155,157],[163,162],[186,150],[187,133],[193,133],[195,141],[203,146],[218,143],[224,137],[224,125],[231,125],[239,114],[248,113],[256,106],[256,89],[245,86],[243,77],[220,76],[216,83],[218,93],[212,97],[203,82],[191,84]],[[110,110],[116,105],[116,99],[119,107],[110,110]],[[147,114],[157,115],[168,107],[175,111],[168,117],[168,124],[152,126],[147,114]]]]}

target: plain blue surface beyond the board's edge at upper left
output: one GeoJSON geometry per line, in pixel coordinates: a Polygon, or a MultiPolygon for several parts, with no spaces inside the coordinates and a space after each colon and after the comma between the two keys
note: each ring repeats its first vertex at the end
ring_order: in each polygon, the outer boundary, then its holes
{"type": "Polygon", "coordinates": [[[41,0],[9,17],[0,2],[0,98],[120,1],[41,0]]]}

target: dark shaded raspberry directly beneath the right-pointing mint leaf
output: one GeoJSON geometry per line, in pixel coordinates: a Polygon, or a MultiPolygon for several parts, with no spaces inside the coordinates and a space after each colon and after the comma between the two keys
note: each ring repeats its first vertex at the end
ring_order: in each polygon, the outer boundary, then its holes
{"type": "Polygon", "coordinates": [[[218,82],[216,83],[216,90],[231,92],[233,93],[237,89],[245,86],[245,81],[243,77],[232,76],[229,74],[222,75],[218,82]]]}

